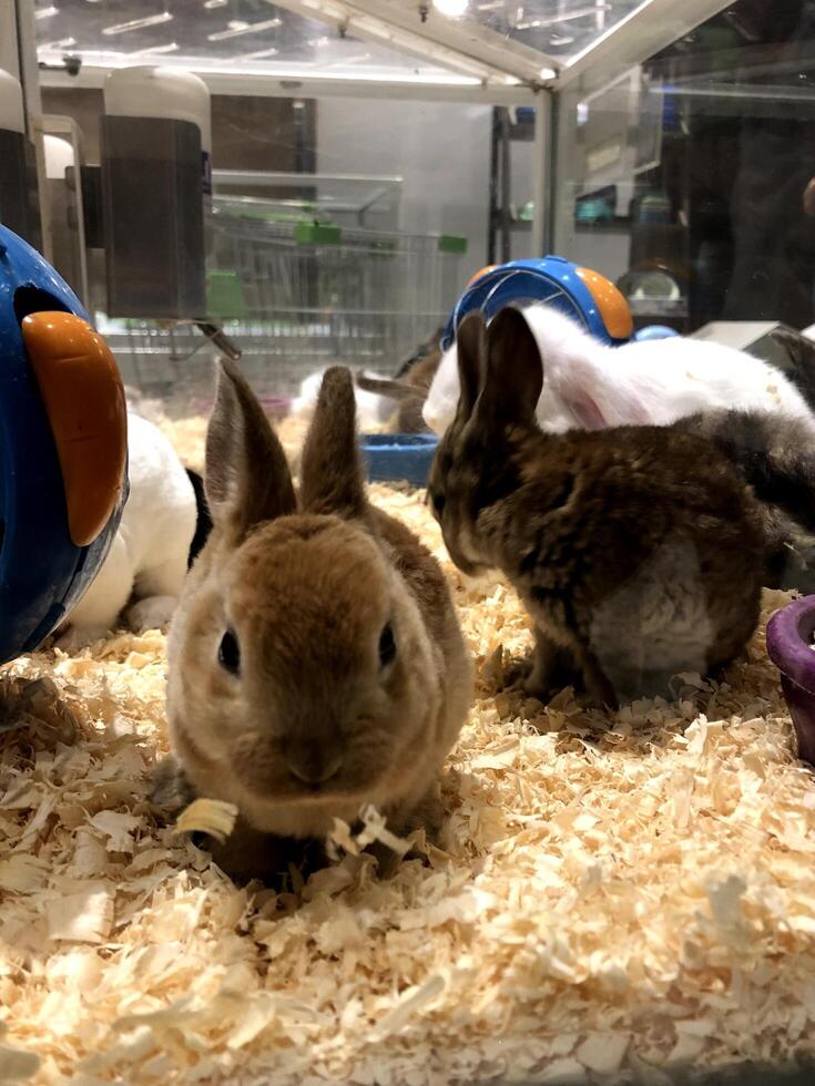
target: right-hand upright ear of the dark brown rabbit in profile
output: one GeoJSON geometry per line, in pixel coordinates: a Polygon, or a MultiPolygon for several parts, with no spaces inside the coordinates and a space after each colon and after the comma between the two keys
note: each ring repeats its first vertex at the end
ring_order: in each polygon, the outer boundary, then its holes
{"type": "Polygon", "coordinates": [[[487,329],[487,378],[479,416],[500,423],[532,422],[543,390],[543,361],[527,318],[507,306],[487,329]]]}

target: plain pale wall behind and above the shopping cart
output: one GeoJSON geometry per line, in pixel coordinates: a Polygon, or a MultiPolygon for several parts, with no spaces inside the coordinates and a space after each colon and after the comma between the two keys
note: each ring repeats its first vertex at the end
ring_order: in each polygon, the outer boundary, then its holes
{"type": "Polygon", "coordinates": [[[400,228],[463,234],[477,270],[487,258],[490,110],[454,103],[319,99],[320,173],[404,177],[400,228]]]}

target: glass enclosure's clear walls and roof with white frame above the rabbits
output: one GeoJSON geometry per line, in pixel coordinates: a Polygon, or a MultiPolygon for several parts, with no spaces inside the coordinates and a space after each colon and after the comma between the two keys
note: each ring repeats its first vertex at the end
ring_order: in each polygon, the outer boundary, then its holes
{"type": "MultiPolygon", "coordinates": [[[[813,322],[811,3],[738,0],[686,29],[704,6],[683,6],[665,17],[675,40],[646,55],[650,3],[449,2],[463,37],[398,0],[41,0],[43,105],[75,122],[92,167],[104,72],[215,80],[207,319],[268,395],[330,360],[395,372],[473,273],[542,255],[541,238],[617,283],[638,327],[813,322]],[[267,96],[271,78],[292,95],[267,96]],[[549,90],[499,104],[534,80],[549,90]]],[[[92,308],[128,380],[183,401],[208,346],[190,322],[108,311],[92,203],[92,308]]]]}

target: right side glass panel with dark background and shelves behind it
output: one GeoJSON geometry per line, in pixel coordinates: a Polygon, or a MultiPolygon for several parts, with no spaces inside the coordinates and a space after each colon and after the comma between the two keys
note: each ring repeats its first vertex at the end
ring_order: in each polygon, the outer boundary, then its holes
{"type": "Polygon", "coordinates": [[[815,320],[808,12],[741,0],[562,96],[557,247],[620,280],[638,324],[815,320]]]}

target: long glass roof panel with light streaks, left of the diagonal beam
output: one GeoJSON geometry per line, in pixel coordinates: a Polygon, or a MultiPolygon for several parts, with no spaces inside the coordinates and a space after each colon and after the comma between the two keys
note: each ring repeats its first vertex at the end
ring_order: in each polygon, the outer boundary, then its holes
{"type": "Polygon", "coordinates": [[[266,0],[42,0],[40,60],[64,53],[120,66],[155,58],[195,71],[364,76],[446,71],[374,42],[343,38],[266,0]]]}

